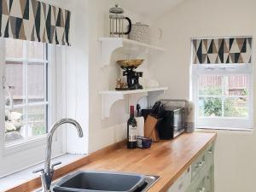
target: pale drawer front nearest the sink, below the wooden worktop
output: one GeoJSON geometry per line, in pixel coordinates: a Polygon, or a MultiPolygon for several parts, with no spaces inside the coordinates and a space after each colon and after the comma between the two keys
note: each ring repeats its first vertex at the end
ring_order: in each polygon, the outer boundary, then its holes
{"type": "Polygon", "coordinates": [[[177,178],[177,181],[172,184],[172,187],[168,189],[168,192],[184,192],[188,189],[191,181],[191,167],[183,172],[181,177],[177,178]]]}

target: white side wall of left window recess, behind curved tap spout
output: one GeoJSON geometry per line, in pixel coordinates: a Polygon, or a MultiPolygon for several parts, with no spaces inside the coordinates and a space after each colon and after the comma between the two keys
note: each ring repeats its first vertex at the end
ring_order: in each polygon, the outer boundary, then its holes
{"type": "Polygon", "coordinates": [[[67,126],[67,153],[86,154],[89,132],[89,7],[87,0],[67,1],[71,10],[71,47],[67,47],[67,118],[76,119],[84,137],[67,126]]]}

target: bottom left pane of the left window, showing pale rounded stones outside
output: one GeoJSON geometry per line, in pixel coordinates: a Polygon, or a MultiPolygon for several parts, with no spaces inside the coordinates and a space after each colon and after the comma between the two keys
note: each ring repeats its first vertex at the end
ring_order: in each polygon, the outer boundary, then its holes
{"type": "Polygon", "coordinates": [[[25,138],[23,108],[5,109],[5,142],[15,143],[25,138]]]}

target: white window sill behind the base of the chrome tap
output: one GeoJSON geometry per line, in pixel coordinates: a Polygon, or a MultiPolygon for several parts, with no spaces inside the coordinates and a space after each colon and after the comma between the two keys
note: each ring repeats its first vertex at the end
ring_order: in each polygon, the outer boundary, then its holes
{"type": "MultiPolygon", "coordinates": [[[[63,154],[59,157],[54,158],[52,162],[54,163],[54,162],[61,161],[62,162],[61,166],[63,166],[73,162],[74,160],[78,160],[83,156],[84,154],[63,154]]],[[[13,174],[10,174],[9,176],[0,178],[0,183],[1,183],[0,191],[11,189],[14,186],[17,186],[21,183],[25,183],[28,180],[31,180],[34,177],[38,177],[40,173],[34,174],[32,172],[34,170],[37,170],[38,168],[42,168],[43,166],[44,166],[44,162],[36,166],[30,166],[20,172],[15,172],[13,174]]],[[[58,166],[56,166],[56,168],[58,168],[58,166]]]]}

